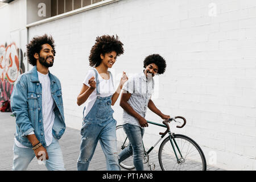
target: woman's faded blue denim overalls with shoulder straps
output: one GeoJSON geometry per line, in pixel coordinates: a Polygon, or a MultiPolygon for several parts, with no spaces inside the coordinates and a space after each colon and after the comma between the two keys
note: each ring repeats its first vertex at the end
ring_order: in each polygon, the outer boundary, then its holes
{"type": "MultiPolygon", "coordinates": [[[[92,109],[90,109],[89,113],[83,118],[81,129],[82,139],[80,155],[77,161],[77,170],[88,170],[90,160],[92,159],[98,140],[100,140],[101,148],[106,157],[107,170],[119,171],[117,137],[115,134],[117,121],[113,118],[114,110],[111,107],[112,96],[100,97],[100,81],[98,80],[98,73],[95,69],[93,70],[96,75],[97,99],[92,109]]],[[[109,75],[113,83],[113,78],[110,72],[109,75]]]]}

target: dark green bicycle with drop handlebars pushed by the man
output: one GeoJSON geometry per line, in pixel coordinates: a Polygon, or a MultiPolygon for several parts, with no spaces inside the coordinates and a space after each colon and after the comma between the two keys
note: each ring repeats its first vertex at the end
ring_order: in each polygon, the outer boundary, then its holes
{"type": "MultiPolygon", "coordinates": [[[[163,124],[155,123],[152,121],[147,121],[148,123],[156,126],[166,127],[166,131],[164,133],[159,133],[161,135],[160,139],[152,146],[148,151],[144,148],[144,156],[143,156],[143,163],[148,163],[148,167],[150,170],[155,169],[155,164],[150,164],[149,162],[149,154],[155,148],[155,146],[163,140],[163,138],[168,134],[163,142],[160,144],[159,151],[158,151],[158,160],[160,167],[163,171],[170,171],[170,170],[178,170],[178,171],[187,171],[187,170],[207,170],[207,163],[205,160],[205,156],[199,145],[191,138],[181,135],[172,133],[170,130],[170,126],[168,125],[169,122],[179,122],[176,119],[183,119],[182,126],[176,126],[177,128],[182,128],[186,124],[186,119],[181,116],[177,116],[174,118],[166,119],[163,121],[163,124]]],[[[180,123],[180,122],[179,122],[180,123]]],[[[118,152],[125,149],[130,143],[129,139],[123,130],[122,125],[118,125],[116,127],[117,131],[117,144],[118,144],[118,152]]],[[[120,163],[120,166],[125,169],[134,169],[133,165],[133,156],[123,160],[120,163]]]]}

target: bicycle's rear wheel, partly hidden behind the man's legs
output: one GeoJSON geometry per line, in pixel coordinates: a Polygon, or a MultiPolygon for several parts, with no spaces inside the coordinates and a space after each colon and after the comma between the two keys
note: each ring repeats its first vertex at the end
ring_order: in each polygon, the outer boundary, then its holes
{"type": "MultiPolygon", "coordinates": [[[[117,132],[117,152],[120,154],[120,152],[124,150],[130,142],[122,125],[118,125],[115,130],[117,132]]],[[[133,155],[123,160],[119,165],[125,169],[134,169],[133,155]]]]}

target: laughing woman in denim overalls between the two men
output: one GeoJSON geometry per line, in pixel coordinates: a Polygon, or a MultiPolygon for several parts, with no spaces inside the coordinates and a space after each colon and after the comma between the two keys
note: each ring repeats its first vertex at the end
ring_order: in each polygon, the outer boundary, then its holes
{"type": "Polygon", "coordinates": [[[128,80],[123,72],[117,90],[114,90],[112,68],[117,57],[123,54],[123,44],[118,36],[103,35],[96,38],[89,56],[89,65],[93,67],[87,73],[77,105],[85,102],[81,128],[80,155],[77,170],[88,170],[98,140],[106,157],[108,171],[119,171],[113,109],[123,84],[128,80]]]}

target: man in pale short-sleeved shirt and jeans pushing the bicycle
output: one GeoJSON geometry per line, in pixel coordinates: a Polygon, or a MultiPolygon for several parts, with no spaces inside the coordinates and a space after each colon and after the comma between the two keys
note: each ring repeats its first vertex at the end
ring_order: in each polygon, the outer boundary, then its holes
{"type": "Polygon", "coordinates": [[[163,114],[151,100],[154,91],[153,77],[166,71],[166,60],[159,54],[152,54],[144,59],[144,70],[131,77],[123,86],[120,106],[123,108],[123,130],[129,138],[129,145],[119,154],[119,163],[133,155],[133,163],[137,171],[143,171],[144,127],[148,127],[145,119],[147,107],[162,119],[170,118],[163,114]]]}

